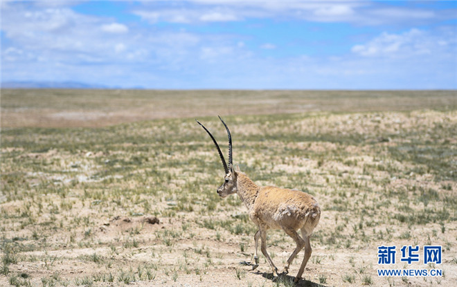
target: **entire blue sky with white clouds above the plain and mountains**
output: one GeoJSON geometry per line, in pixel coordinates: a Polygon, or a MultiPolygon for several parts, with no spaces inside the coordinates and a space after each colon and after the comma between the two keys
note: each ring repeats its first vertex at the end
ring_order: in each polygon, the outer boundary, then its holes
{"type": "Polygon", "coordinates": [[[457,89],[457,1],[1,1],[1,80],[457,89]]]}

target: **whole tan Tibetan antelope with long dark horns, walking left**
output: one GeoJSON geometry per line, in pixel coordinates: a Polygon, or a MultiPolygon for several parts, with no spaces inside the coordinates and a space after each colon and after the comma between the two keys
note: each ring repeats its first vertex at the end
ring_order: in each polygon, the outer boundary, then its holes
{"type": "Polygon", "coordinates": [[[219,117],[219,119],[224,124],[228,135],[228,165],[213,135],[198,120],[197,122],[213,140],[224,166],[224,183],[217,188],[217,194],[222,198],[230,194],[238,194],[249,210],[249,218],[258,227],[258,231],[254,235],[254,260],[256,263],[253,265],[253,270],[258,267],[258,240],[262,239],[260,250],[267,258],[271,270],[273,270],[273,275],[278,276],[278,268],[271,261],[271,257],[267,252],[267,230],[282,229],[296,243],[294,252],[287,259],[283,274],[287,274],[290,263],[292,263],[298,252],[305,248],[305,257],[294,279],[294,282],[297,282],[301,279],[306,263],[311,256],[310,236],[319,222],[321,209],[310,194],[279,187],[261,187],[253,183],[246,174],[241,172],[240,167],[237,166],[235,169],[232,163],[231,134],[222,118],[219,117]],[[297,230],[301,230],[302,236],[298,235],[297,230]]]}

